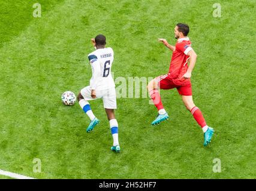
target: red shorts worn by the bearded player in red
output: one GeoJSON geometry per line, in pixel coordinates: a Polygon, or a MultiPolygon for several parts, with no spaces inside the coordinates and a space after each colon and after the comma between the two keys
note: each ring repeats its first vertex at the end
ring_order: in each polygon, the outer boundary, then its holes
{"type": "Polygon", "coordinates": [[[188,85],[176,85],[174,82],[168,78],[168,75],[162,75],[155,78],[158,83],[158,87],[162,90],[170,90],[173,88],[177,88],[177,91],[182,96],[192,96],[192,87],[191,83],[188,85]]]}

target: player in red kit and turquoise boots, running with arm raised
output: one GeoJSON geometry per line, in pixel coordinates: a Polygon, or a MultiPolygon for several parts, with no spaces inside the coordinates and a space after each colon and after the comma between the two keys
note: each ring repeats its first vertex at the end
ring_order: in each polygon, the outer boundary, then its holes
{"type": "Polygon", "coordinates": [[[159,89],[170,90],[176,88],[182,96],[182,101],[191,114],[194,116],[195,121],[201,126],[204,133],[204,146],[210,143],[213,135],[213,128],[207,126],[206,121],[201,113],[201,110],[195,106],[192,100],[191,88],[191,73],[195,66],[197,54],[191,47],[191,42],[188,38],[189,26],[187,24],[178,23],[174,28],[175,38],[177,43],[174,46],[168,44],[165,39],[158,39],[165,47],[173,51],[171,57],[170,69],[167,75],[158,76],[147,85],[149,95],[153,103],[158,109],[158,116],[152,125],[159,124],[168,119],[168,114],[162,106],[159,89]]]}

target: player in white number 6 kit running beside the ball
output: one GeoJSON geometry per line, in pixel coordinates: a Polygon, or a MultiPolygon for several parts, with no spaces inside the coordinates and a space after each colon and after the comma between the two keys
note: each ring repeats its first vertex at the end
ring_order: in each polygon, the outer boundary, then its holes
{"type": "Polygon", "coordinates": [[[109,119],[110,130],[113,136],[113,146],[111,150],[120,152],[118,121],[116,121],[114,112],[114,109],[116,109],[116,90],[115,82],[111,75],[114,52],[112,48],[106,48],[106,37],[104,35],[97,35],[91,41],[96,49],[94,52],[88,54],[92,67],[92,78],[90,85],[80,91],[77,100],[83,111],[91,119],[86,130],[86,132],[90,133],[100,121],[95,117],[88,101],[97,98],[103,99],[104,108],[107,113],[107,118],[109,119]]]}

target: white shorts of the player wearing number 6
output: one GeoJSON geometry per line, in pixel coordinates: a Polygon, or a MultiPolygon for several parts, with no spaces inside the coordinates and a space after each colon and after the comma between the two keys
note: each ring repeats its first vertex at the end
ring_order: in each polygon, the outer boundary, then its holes
{"type": "Polygon", "coordinates": [[[85,87],[81,90],[81,94],[86,101],[96,100],[98,98],[103,99],[104,108],[106,109],[116,109],[116,89],[109,88],[107,90],[96,90],[96,98],[91,97],[92,88],[91,86],[85,87]]]}

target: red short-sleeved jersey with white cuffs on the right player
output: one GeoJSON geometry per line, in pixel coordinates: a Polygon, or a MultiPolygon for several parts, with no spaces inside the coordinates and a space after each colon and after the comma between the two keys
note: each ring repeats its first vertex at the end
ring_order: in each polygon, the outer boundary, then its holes
{"type": "Polygon", "coordinates": [[[171,57],[168,73],[168,78],[170,78],[176,85],[190,84],[189,78],[182,78],[188,70],[189,56],[187,54],[190,50],[192,50],[192,48],[188,37],[177,40],[175,51],[173,51],[173,56],[171,57]]]}

